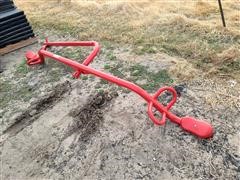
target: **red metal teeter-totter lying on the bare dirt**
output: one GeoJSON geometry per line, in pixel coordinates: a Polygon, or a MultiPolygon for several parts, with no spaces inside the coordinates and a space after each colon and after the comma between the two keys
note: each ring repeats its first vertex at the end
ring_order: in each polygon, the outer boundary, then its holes
{"type": "Polygon", "coordinates": [[[142,89],[141,87],[137,86],[132,82],[120,79],[113,75],[89,67],[88,65],[96,57],[99,50],[100,46],[95,41],[48,42],[48,40],[46,39],[46,42],[43,44],[42,48],[38,51],[37,54],[33,53],[32,51],[28,51],[26,53],[26,58],[27,64],[31,66],[44,63],[44,58],[48,57],[61,63],[64,63],[67,66],[72,67],[75,70],[75,72],[73,73],[74,78],[79,78],[81,74],[93,74],[95,76],[98,76],[102,79],[115,83],[119,86],[125,87],[137,93],[147,101],[148,115],[150,119],[153,121],[153,123],[156,125],[164,125],[166,122],[166,118],[168,118],[172,122],[179,124],[184,130],[196,135],[199,138],[210,138],[213,136],[213,128],[209,123],[197,120],[192,117],[178,117],[169,111],[177,100],[177,92],[174,88],[162,87],[154,95],[151,95],[147,91],[145,91],[144,89],[142,89]],[[80,64],[71,59],[47,51],[47,48],[51,46],[93,46],[94,49],[91,52],[91,54],[83,61],[83,63],[80,64]],[[158,101],[158,97],[165,91],[168,91],[172,94],[172,100],[169,102],[167,106],[162,105],[158,101]],[[161,119],[158,119],[154,116],[152,111],[153,107],[162,114],[161,119]]]}

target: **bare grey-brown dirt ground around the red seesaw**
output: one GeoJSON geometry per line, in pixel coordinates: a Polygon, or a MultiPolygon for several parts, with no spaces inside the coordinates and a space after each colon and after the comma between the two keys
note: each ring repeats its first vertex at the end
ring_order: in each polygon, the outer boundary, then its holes
{"type": "MultiPolygon", "coordinates": [[[[213,138],[201,140],[171,122],[153,125],[141,97],[98,78],[72,79],[51,60],[24,69],[24,52],[39,47],[0,57],[1,94],[10,97],[0,110],[2,179],[240,179],[239,101],[207,103],[220,81],[178,82],[183,90],[172,111],[207,119],[215,129],[213,138]]],[[[104,70],[111,62],[102,51],[91,66],[104,70]]],[[[126,67],[124,59],[132,57],[151,71],[169,69],[175,60],[113,54],[126,67]]],[[[237,97],[239,83],[231,87],[237,97]]]]}

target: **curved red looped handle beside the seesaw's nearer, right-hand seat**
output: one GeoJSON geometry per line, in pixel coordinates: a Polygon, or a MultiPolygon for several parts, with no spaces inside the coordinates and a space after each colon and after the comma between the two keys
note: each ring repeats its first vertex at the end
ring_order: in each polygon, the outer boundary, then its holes
{"type": "MultiPolygon", "coordinates": [[[[169,110],[173,105],[174,103],[177,101],[177,92],[174,88],[172,87],[162,87],[160,88],[154,95],[153,95],[153,98],[155,100],[157,100],[157,98],[164,92],[164,91],[169,91],[171,92],[172,94],[172,100],[168,103],[166,107],[167,110],[169,110]]],[[[153,115],[153,112],[152,112],[152,107],[153,107],[153,102],[149,102],[148,104],[148,115],[150,117],[150,119],[153,121],[153,123],[157,124],[157,125],[163,125],[166,123],[166,113],[165,112],[162,112],[162,119],[159,120],[158,118],[156,118],[154,115],[153,115]]]]}

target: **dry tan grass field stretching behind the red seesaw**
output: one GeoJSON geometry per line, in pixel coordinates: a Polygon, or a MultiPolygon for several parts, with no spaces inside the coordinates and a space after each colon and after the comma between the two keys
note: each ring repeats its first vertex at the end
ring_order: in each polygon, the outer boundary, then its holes
{"type": "Polygon", "coordinates": [[[209,74],[239,78],[239,0],[223,0],[222,28],[215,0],[16,0],[32,25],[81,40],[132,44],[136,53],[165,52],[209,74]]]}

